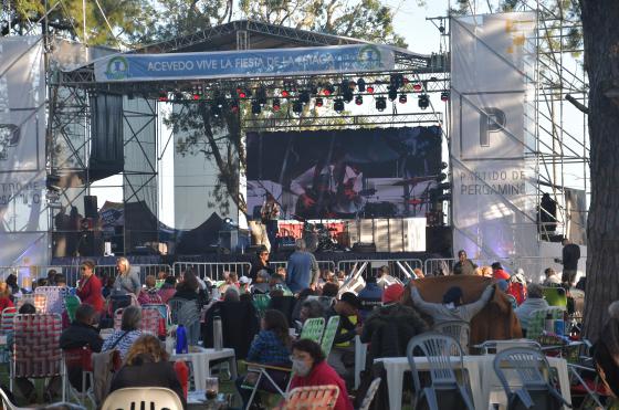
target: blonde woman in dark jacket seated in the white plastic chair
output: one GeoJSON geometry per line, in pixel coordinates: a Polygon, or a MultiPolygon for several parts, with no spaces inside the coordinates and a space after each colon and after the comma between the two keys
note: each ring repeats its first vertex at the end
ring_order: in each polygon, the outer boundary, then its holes
{"type": "Polygon", "coordinates": [[[174,365],[168,361],[168,354],[159,339],[153,335],[143,335],[134,341],[124,366],[112,379],[109,392],[126,387],[165,387],[177,393],[182,408],[187,408],[174,365]]]}

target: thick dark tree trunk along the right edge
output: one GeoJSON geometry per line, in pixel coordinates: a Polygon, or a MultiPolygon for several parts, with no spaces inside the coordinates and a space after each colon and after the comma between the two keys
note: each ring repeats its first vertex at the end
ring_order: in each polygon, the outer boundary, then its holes
{"type": "Polygon", "coordinates": [[[597,340],[619,299],[619,101],[606,93],[619,61],[619,1],[579,0],[589,76],[591,206],[587,224],[585,336],[597,340]]]}

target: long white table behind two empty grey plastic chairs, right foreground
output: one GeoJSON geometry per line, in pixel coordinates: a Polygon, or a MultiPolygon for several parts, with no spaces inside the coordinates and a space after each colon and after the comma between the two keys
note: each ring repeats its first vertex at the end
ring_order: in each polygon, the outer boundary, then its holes
{"type": "MultiPolygon", "coordinates": [[[[563,398],[571,403],[569,392],[569,377],[567,372],[567,361],[557,357],[548,357],[548,364],[557,371],[560,393],[563,398]]],[[[475,409],[487,409],[490,406],[490,395],[493,392],[492,383],[489,378],[494,375],[494,355],[463,356],[464,370],[469,374],[473,406],[475,409]]],[[[410,366],[406,357],[388,357],[376,359],[381,361],[387,374],[387,387],[389,389],[389,406],[392,410],[402,408],[402,380],[405,371],[410,371],[410,366]]],[[[454,361],[454,365],[458,361],[454,361]]],[[[418,370],[428,371],[430,369],[427,357],[416,357],[415,364],[418,370]]],[[[496,390],[503,395],[503,389],[496,390]]]]}

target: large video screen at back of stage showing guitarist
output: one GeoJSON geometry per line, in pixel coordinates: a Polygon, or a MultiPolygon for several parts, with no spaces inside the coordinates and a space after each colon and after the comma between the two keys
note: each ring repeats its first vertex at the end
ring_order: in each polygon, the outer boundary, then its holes
{"type": "Polygon", "coordinates": [[[248,133],[248,207],[272,195],[281,219],[426,215],[441,174],[441,129],[248,133]]]}

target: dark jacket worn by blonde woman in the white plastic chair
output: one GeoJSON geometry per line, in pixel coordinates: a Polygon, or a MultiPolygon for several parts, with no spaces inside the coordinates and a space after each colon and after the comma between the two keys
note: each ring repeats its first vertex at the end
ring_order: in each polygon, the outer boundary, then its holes
{"type": "Polygon", "coordinates": [[[182,402],[182,408],[187,408],[185,392],[169,361],[153,362],[145,359],[139,365],[123,366],[112,379],[109,392],[126,387],[165,387],[174,390],[182,402]]]}

